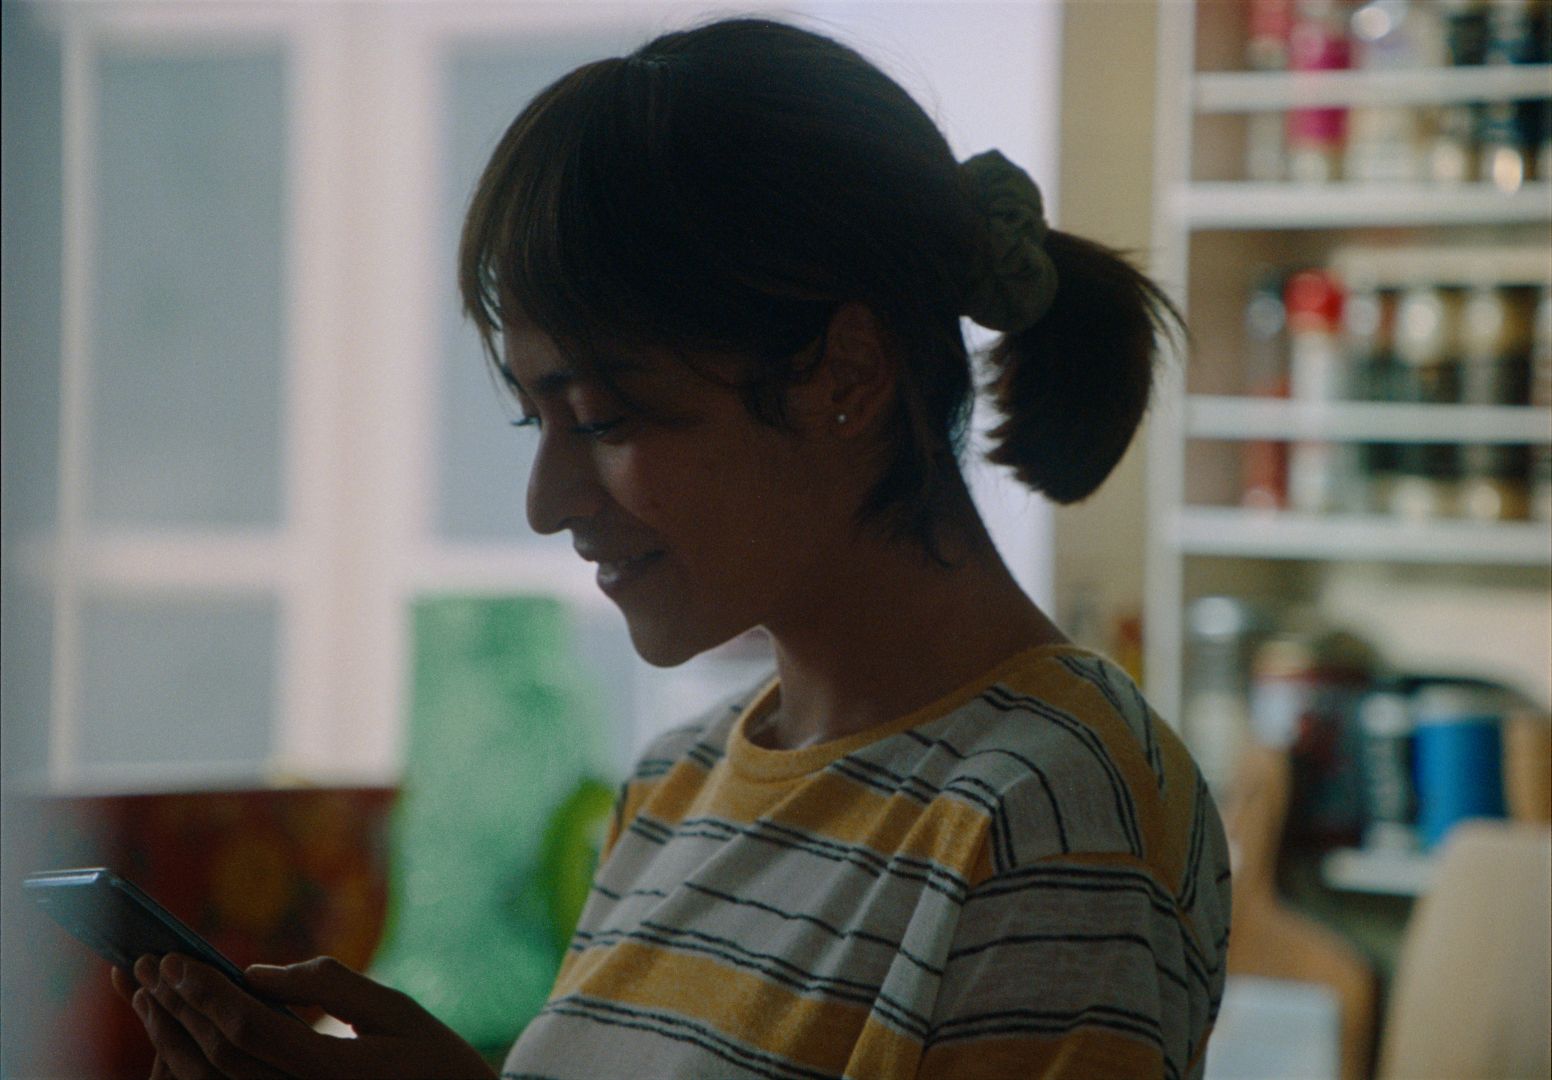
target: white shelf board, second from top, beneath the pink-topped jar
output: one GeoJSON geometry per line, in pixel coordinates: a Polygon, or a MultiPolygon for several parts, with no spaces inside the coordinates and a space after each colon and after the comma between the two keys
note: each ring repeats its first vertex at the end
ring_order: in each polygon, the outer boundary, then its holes
{"type": "Polygon", "coordinates": [[[1361,228],[1383,225],[1552,225],[1552,183],[1256,183],[1209,180],[1173,191],[1192,230],[1361,228]]]}

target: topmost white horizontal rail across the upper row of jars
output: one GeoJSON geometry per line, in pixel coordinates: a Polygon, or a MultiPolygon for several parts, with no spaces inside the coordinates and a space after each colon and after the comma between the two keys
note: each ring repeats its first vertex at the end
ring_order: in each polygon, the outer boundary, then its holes
{"type": "Polygon", "coordinates": [[[1411,71],[1206,71],[1192,82],[1198,113],[1338,106],[1454,106],[1552,96],[1552,64],[1411,71]]]}

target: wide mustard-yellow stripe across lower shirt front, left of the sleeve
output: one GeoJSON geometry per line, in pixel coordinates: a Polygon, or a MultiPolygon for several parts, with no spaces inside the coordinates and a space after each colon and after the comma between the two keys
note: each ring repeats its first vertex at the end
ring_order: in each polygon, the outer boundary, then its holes
{"type": "Polygon", "coordinates": [[[698,1019],[731,1038],[809,1066],[840,1072],[868,1009],[804,998],[750,971],[703,956],[621,942],[568,964],[551,1001],[604,998],[698,1019]]]}

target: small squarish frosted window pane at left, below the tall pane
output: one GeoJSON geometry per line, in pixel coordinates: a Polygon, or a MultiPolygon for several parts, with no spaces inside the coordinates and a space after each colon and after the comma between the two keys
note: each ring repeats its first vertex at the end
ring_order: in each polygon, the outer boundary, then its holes
{"type": "Polygon", "coordinates": [[[82,613],[82,765],[270,754],[279,611],[268,596],[95,597],[82,613]]]}

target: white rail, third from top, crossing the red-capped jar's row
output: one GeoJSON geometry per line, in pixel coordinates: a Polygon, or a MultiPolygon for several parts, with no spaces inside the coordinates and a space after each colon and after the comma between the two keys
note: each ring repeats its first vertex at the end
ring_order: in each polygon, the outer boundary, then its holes
{"type": "Polygon", "coordinates": [[[1192,439],[1226,441],[1544,444],[1552,442],[1552,410],[1192,394],[1184,430],[1192,439]]]}

